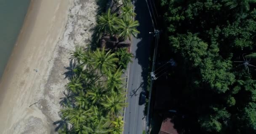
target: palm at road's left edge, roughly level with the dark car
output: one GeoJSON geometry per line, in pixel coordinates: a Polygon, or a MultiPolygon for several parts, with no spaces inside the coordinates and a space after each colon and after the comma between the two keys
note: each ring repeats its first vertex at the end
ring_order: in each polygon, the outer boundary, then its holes
{"type": "Polygon", "coordinates": [[[104,100],[101,105],[103,105],[110,114],[118,115],[120,114],[120,111],[123,109],[123,107],[126,106],[126,103],[124,103],[124,101],[124,96],[112,93],[110,97],[106,95],[106,100],[104,100]]]}

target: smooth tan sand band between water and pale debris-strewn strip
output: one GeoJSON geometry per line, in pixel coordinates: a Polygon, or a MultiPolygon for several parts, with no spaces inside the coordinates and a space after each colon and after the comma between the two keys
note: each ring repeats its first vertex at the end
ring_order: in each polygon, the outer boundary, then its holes
{"type": "Polygon", "coordinates": [[[61,0],[30,1],[23,26],[0,81],[1,134],[27,133],[32,128],[23,125],[29,122],[45,127],[37,130],[38,133],[52,131],[52,128],[47,128],[48,124],[44,123],[47,118],[41,115],[38,109],[27,108],[27,105],[35,100],[34,97],[38,93],[38,90],[32,88],[37,88],[37,84],[43,79],[43,74],[33,70],[37,68],[45,72],[47,69],[47,62],[51,59],[54,47],[64,33],[68,6],[68,1],[61,0]],[[23,122],[29,114],[35,119],[29,117],[30,121],[23,122]]]}

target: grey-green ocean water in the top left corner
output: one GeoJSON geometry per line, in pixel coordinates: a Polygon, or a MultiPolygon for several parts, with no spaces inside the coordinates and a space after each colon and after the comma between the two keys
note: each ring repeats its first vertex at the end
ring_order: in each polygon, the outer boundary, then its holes
{"type": "Polygon", "coordinates": [[[0,78],[23,25],[30,0],[0,0],[0,78]]]}

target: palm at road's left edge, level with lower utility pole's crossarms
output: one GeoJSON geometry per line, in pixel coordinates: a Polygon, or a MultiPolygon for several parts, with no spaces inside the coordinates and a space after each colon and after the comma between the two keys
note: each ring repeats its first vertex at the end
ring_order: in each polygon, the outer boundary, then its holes
{"type": "Polygon", "coordinates": [[[113,74],[112,72],[107,73],[106,85],[107,89],[111,90],[111,93],[115,92],[115,89],[119,88],[123,84],[121,75],[123,74],[120,68],[113,74]]]}

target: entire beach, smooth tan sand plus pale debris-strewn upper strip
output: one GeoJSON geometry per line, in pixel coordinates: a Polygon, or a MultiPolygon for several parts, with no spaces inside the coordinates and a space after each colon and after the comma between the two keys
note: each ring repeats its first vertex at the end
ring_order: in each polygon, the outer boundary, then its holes
{"type": "Polygon", "coordinates": [[[32,0],[0,82],[0,134],[55,133],[69,53],[90,44],[96,1],[32,0]]]}

